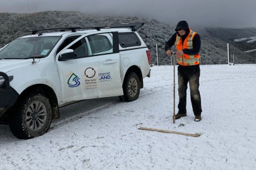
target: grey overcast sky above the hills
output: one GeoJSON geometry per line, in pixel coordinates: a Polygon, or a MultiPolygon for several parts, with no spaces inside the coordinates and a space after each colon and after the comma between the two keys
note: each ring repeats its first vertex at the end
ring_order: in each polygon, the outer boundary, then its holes
{"type": "Polygon", "coordinates": [[[256,0],[0,0],[0,13],[53,10],[154,18],[171,25],[186,20],[190,27],[256,27],[256,0]]]}

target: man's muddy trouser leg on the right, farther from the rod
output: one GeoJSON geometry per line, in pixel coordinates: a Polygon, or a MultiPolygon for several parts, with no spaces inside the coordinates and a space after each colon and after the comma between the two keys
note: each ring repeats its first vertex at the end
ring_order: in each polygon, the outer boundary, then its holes
{"type": "Polygon", "coordinates": [[[200,67],[195,67],[194,74],[189,77],[190,98],[195,116],[200,116],[202,113],[201,96],[199,92],[199,77],[200,67]]]}

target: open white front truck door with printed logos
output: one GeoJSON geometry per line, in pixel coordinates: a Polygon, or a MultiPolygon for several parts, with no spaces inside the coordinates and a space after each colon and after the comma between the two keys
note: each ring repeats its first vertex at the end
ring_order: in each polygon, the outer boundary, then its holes
{"type": "Polygon", "coordinates": [[[118,32],[83,35],[65,49],[75,57],[56,56],[63,102],[123,95],[118,32]]]}

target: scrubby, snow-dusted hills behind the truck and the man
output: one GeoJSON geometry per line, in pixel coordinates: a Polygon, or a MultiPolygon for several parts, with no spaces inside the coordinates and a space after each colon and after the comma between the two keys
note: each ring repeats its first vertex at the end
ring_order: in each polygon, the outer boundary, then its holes
{"type": "MultiPolygon", "coordinates": [[[[164,43],[173,35],[176,23],[171,25],[149,18],[125,17],[125,16],[101,16],[88,13],[71,12],[71,11],[46,11],[40,13],[16,14],[16,13],[0,13],[0,48],[11,42],[15,38],[28,35],[28,30],[37,30],[44,28],[62,28],[70,26],[102,26],[120,23],[144,22],[145,25],[138,30],[147,47],[150,49],[152,64],[157,64],[156,44],[158,46],[159,65],[171,64],[170,57],[164,52],[164,43]]],[[[235,62],[238,63],[256,63],[256,55],[245,53],[243,47],[239,47],[241,42],[235,42],[238,38],[251,37],[253,33],[243,33],[240,30],[238,36],[236,30],[232,31],[233,37],[225,37],[228,28],[221,33],[221,28],[207,28],[204,31],[192,30],[198,32],[202,38],[202,48],[200,55],[202,64],[228,64],[227,43],[230,43],[231,55],[235,55],[235,62]],[[247,56],[243,56],[243,55],[247,56]]],[[[232,29],[229,29],[232,30],[232,29]]],[[[254,30],[255,31],[255,30],[254,30]]],[[[256,32],[256,31],[255,31],[256,32]]],[[[256,35],[254,32],[254,36],[256,35]]],[[[243,43],[247,45],[248,43],[243,43]]],[[[252,45],[252,43],[250,44],[252,45]]],[[[252,47],[253,48],[253,47],[252,47]]],[[[250,47],[250,50],[252,50],[250,47]]],[[[255,47],[256,48],[256,47],[255,47]]]]}

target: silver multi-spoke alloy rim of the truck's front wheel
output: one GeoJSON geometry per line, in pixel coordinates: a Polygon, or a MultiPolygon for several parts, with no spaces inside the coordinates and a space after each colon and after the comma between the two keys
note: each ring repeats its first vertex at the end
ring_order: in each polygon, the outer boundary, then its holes
{"type": "Polygon", "coordinates": [[[40,130],[46,123],[47,110],[44,103],[35,101],[26,111],[26,124],[32,131],[40,130]]]}

